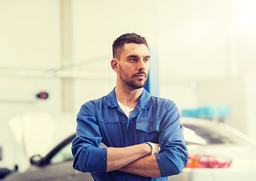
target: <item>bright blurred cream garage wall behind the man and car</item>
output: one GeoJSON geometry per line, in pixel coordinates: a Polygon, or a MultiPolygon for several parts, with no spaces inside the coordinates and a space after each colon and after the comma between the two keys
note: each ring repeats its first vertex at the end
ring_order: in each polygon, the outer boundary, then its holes
{"type": "Polygon", "coordinates": [[[114,88],[111,44],[126,32],[154,50],[159,97],[256,139],[255,9],[253,0],[0,0],[0,167],[34,154],[17,144],[40,148],[33,133],[46,152],[63,138],[55,127],[75,130],[75,117],[58,114],[114,88]]]}

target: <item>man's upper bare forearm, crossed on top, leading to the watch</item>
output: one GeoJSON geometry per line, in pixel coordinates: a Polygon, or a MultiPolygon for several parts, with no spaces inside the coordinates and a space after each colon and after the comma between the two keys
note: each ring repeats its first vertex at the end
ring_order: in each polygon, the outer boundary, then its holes
{"type": "Polygon", "coordinates": [[[118,170],[133,161],[151,154],[151,147],[146,143],[124,148],[107,149],[107,171],[118,170]]]}

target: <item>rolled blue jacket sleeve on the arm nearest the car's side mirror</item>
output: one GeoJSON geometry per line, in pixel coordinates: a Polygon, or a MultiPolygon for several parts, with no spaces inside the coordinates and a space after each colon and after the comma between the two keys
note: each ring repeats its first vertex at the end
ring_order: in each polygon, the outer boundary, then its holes
{"type": "Polygon", "coordinates": [[[82,172],[105,172],[107,149],[99,148],[102,137],[92,102],[84,104],[77,115],[76,137],[72,142],[73,168],[82,172]]]}

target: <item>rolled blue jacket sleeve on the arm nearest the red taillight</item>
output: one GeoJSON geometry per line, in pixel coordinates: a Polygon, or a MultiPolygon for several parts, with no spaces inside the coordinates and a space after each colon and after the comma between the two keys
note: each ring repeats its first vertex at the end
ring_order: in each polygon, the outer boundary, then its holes
{"type": "Polygon", "coordinates": [[[170,102],[162,119],[159,136],[161,151],[155,155],[161,176],[171,176],[182,172],[188,161],[188,152],[183,137],[183,125],[176,105],[170,102]]]}

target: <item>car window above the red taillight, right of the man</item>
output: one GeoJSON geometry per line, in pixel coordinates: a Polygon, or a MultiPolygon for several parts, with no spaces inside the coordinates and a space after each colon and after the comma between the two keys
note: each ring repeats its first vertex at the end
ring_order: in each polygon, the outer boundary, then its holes
{"type": "Polygon", "coordinates": [[[242,133],[229,130],[226,127],[215,127],[211,124],[183,124],[183,126],[187,145],[251,145],[242,133]]]}

